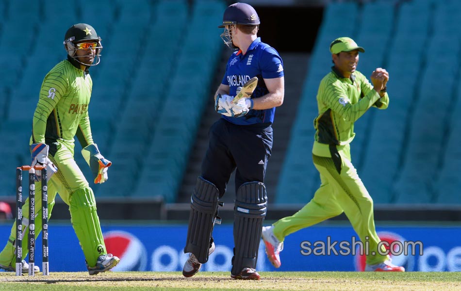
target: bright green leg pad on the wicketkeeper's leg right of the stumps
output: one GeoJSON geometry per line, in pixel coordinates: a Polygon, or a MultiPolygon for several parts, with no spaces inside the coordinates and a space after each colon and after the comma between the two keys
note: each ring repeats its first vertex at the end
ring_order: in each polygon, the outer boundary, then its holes
{"type": "Polygon", "coordinates": [[[107,254],[102,237],[96,200],[91,188],[81,188],[70,196],[70,216],[75,234],[79,239],[86,263],[94,267],[100,255],[107,254]]]}

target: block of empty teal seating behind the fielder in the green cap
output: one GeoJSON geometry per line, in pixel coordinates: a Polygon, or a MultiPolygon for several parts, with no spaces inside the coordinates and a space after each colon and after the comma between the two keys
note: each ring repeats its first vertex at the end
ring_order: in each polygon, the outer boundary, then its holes
{"type": "Polygon", "coordinates": [[[310,158],[312,120],[317,114],[314,97],[328,72],[329,42],[344,34],[365,48],[358,69],[366,77],[379,66],[391,74],[389,109],[372,109],[362,116],[351,145],[354,165],[375,203],[460,203],[454,173],[459,169],[461,129],[453,103],[459,99],[455,80],[460,74],[461,30],[456,19],[461,3],[376,1],[356,7],[360,11],[355,12],[350,6],[354,4],[331,3],[325,11],[281,170],[277,202],[304,203],[318,187],[310,158]],[[350,19],[345,20],[344,14],[334,17],[346,10],[353,11],[347,14],[350,19]],[[338,28],[344,24],[351,26],[338,28]]]}

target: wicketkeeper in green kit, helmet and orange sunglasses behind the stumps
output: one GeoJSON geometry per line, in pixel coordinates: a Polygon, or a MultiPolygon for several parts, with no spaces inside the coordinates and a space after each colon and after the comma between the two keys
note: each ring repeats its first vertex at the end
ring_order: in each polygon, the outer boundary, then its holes
{"type": "MultiPolygon", "coordinates": [[[[32,165],[47,165],[48,214],[51,216],[54,199],[59,193],[69,206],[72,226],[82,247],[88,272],[96,275],[115,267],[120,259],[106,252],[93,190],[74,160],[74,136],[77,135],[82,145],[82,155],[91,168],[94,183],[105,182],[111,162],[99,153],[91,135],[88,117],[93,86],[89,67],[99,64],[101,38],[91,25],[79,23],[67,30],[64,47],[67,59],[54,66],[45,76],[33,114],[32,165]]],[[[38,236],[42,230],[41,187],[35,189],[38,195],[35,199],[35,236],[38,236]]],[[[22,213],[22,249],[27,250],[29,199],[22,213]]],[[[0,253],[0,268],[7,271],[14,271],[12,266],[15,266],[15,230],[16,223],[0,253]]],[[[22,257],[26,255],[27,252],[23,251],[22,257]]],[[[23,260],[23,268],[28,270],[28,267],[23,260]]],[[[38,266],[34,267],[38,272],[38,266]]]]}

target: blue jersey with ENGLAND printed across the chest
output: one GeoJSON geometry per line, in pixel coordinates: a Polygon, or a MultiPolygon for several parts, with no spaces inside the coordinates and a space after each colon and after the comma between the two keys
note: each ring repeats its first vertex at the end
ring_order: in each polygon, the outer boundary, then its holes
{"type": "MultiPolygon", "coordinates": [[[[224,85],[230,86],[229,95],[235,96],[237,87],[242,87],[253,77],[258,77],[258,86],[251,98],[261,97],[269,93],[263,79],[283,77],[283,62],[277,50],[261,42],[261,38],[255,39],[248,47],[247,53],[241,50],[234,52],[226,66],[224,85]]],[[[251,125],[258,123],[272,124],[274,121],[275,107],[265,110],[250,110],[241,117],[224,116],[227,121],[238,125],[251,125]]]]}

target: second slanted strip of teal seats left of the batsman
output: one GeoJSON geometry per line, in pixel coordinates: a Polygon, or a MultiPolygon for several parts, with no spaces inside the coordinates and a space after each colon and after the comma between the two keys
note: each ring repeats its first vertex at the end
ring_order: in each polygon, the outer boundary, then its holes
{"type": "MultiPolygon", "coordinates": [[[[132,176],[136,185],[139,184],[138,179],[144,162],[149,161],[146,159],[147,146],[151,143],[159,112],[164,106],[165,89],[170,83],[167,77],[171,76],[168,70],[172,69],[175,62],[174,54],[179,49],[181,31],[187,19],[187,4],[185,1],[160,1],[153,7],[153,12],[152,26],[146,30],[147,34],[142,35],[140,49],[143,51],[143,57],[138,61],[139,70],[136,65],[136,75],[132,78],[131,89],[123,98],[123,111],[117,121],[118,132],[111,151],[116,157],[129,156],[137,161],[135,173],[138,175],[132,176]],[[172,23],[168,30],[165,30],[166,23],[172,23]],[[160,39],[162,46],[158,45],[160,39]],[[117,149],[122,148],[130,150],[131,154],[117,152],[117,149]]],[[[144,21],[150,21],[150,17],[143,17],[144,21]]],[[[128,166],[128,162],[124,166],[128,166]]],[[[122,171],[119,172],[122,175],[122,171]]],[[[137,195],[133,188],[122,192],[129,196],[137,195]]],[[[142,194],[153,195],[152,192],[142,194]]]]}

